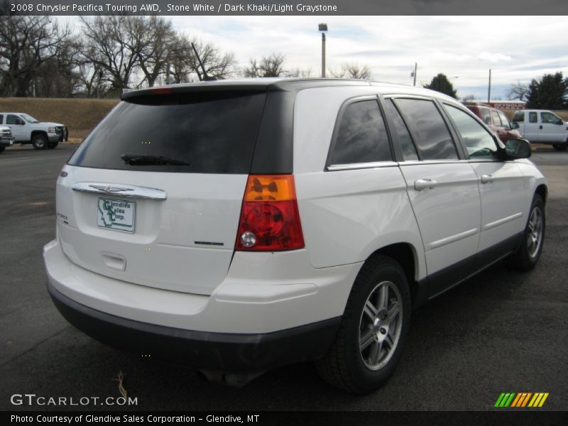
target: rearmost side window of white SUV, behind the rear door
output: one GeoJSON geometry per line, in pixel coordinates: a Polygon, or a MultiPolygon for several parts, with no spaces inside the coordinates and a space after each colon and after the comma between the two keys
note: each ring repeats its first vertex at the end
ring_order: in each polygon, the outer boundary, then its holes
{"type": "Polygon", "coordinates": [[[337,134],[329,153],[329,165],[391,161],[385,123],[378,102],[354,102],[339,118],[337,134]]]}

